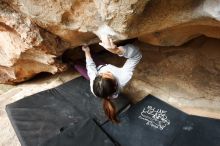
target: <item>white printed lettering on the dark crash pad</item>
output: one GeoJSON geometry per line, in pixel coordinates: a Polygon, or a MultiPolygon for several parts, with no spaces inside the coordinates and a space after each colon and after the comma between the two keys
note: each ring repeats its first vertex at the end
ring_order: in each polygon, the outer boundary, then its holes
{"type": "Polygon", "coordinates": [[[167,125],[170,125],[170,120],[166,116],[167,111],[156,109],[152,106],[143,108],[139,119],[145,120],[146,125],[163,130],[167,125]]]}

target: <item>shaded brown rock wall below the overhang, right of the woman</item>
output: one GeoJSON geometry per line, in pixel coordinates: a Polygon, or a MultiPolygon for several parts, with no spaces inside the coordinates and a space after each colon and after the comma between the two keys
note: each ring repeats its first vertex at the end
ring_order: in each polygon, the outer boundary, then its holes
{"type": "Polygon", "coordinates": [[[128,88],[133,97],[151,93],[191,114],[220,118],[219,45],[205,37],[179,47],[140,45],[143,59],[128,88]]]}

